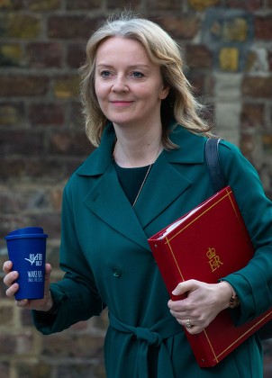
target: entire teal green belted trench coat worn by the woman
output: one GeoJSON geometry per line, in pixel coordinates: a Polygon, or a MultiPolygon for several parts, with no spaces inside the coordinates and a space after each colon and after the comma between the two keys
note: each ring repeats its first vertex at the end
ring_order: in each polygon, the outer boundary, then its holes
{"type": "MultiPolygon", "coordinates": [[[[113,166],[114,139],[108,127],[100,147],[65,187],[60,266],[66,275],[51,284],[59,311],[56,316],[34,312],[36,327],[44,334],[59,332],[107,306],[109,378],[261,378],[262,350],[255,336],[219,365],[198,367],[182,327],[169,313],[168,293],[147,241],[213,194],[205,138],[178,127],[171,139],[180,148],[161,153],[133,209],[113,166]]],[[[238,148],[222,141],[220,156],[256,247],[249,265],[226,277],[240,297],[240,324],[271,305],[272,203],[238,148]]]]}

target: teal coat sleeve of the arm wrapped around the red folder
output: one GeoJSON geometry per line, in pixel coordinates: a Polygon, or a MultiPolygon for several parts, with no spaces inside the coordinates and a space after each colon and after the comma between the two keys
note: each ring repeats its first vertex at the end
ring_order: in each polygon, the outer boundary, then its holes
{"type": "Polygon", "coordinates": [[[223,141],[220,157],[255,247],[255,255],[247,266],[223,278],[240,298],[236,321],[239,325],[272,305],[272,202],[264,193],[256,169],[239,148],[223,141]]]}

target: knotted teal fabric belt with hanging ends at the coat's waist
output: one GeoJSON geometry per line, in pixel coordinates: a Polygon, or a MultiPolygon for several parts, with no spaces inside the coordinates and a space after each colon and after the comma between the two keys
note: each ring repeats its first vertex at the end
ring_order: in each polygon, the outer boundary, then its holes
{"type": "MultiPolygon", "coordinates": [[[[149,347],[158,348],[158,378],[174,378],[175,374],[172,367],[171,357],[168,349],[163,342],[177,333],[183,332],[182,327],[174,318],[165,318],[159,320],[150,329],[142,327],[133,327],[117,320],[113,314],[109,314],[110,326],[123,333],[131,334],[138,340],[138,354],[135,363],[134,378],[149,377],[148,351],[149,347]]],[[[152,364],[152,361],[150,361],[152,364]]]]}

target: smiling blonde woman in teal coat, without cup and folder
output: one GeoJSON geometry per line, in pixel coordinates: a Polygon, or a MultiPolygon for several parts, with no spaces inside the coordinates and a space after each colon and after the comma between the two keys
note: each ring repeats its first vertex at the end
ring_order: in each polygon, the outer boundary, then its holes
{"type": "MultiPolygon", "coordinates": [[[[241,324],[267,310],[272,293],[272,204],[255,169],[223,141],[220,156],[256,256],[218,284],[187,281],[172,302],[147,239],[213,194],[204,163],[210,128],[182,71],[174,40],[150,21],[122,15],[96,31],[81,68],[86,133],[97,146],[63,194],[60,266],[34,310],[44,334],[109,311],[104,343],[108,377],[262,377],[253,336],[213,368],[201,369],[185,332],[202,331],[238,295],[241,324]],[[255,272],[252,275],[252,271],[255,272]]],[[[7,296],[18,290],[6,262],[7,296]]]]}

